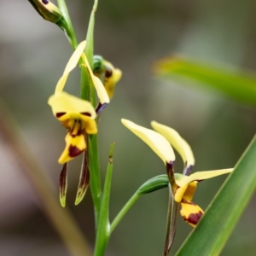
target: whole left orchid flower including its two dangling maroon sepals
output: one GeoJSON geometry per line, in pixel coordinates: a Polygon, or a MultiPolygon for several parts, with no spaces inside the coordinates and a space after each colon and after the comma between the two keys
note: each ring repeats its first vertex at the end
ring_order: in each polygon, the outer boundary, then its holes
{"type": "MultiPolygon", "coordinates": [[[[79,97],[72,96],[63,91],[67,82],[69,73],[77,66],[80,60],[80,66],[86,68],[91,84],[95,86],[97,96],[99,98],[99,106],[106,107],[109,103],[108,93],[102,84],[91,71],[89,62],[84,55],[86,42],[81,42],[73,55],[67,62],[64,73],[59,79],[55,94],[49,97],[48,104],[52,108],[52,112],[56,119],[67,128],[65,137],[66,147],[64,148],[58,162],[64,164],[60,175],[60,201],[61,206],[65,207],[67,194],[67,162],[73,160],[76,156],[84,152],[86,148],[86,134],[96,134],[96,110],[90,102],[84,101],[79,97]]],[[[87,165],[87,156],[84,154],[84,160],[80,173],[79,188],[75,204],[78,205],[84,198],[86,189],[90,182],[90,172],[87,165]]]]}

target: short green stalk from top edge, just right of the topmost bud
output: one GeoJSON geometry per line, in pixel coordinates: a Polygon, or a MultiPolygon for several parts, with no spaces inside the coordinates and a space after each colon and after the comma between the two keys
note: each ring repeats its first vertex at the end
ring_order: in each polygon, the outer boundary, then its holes
{"type": "Polygon", "coordinates": [[[65,0],[57,0],[57,2],[58,2],[58,7],[61,10],[63,17],[67,22],[67,28],[65,29],[65,32],[66,32],[68,41],[72,45],[72,48],[76,49],[78,46],[78,40],[77,40],[76,34],[73,30],[73,25],[72,25],[70,16],[68,14],[67,5],[65,3],[65,0]]]}

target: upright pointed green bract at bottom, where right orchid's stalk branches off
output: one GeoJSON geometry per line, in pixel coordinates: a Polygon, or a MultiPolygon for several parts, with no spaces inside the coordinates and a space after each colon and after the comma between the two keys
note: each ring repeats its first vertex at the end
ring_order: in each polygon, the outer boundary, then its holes
{"type": "Polygon", "coordinates": [[[113,146],[111,144],[108,160],[108,169],[105,178],[104,190],[102,194],[101,211],[98,219],[97,233],[96,233],[96,247],[94,256],[102,256],[105,253],[109,240],[109,197],[111,189],[111,178],[113,172],[113,146]]]}

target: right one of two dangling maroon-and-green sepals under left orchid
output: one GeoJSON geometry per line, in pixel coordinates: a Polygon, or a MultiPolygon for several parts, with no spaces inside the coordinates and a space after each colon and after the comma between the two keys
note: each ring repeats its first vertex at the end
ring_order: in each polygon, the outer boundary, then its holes
{"type": "Polygon", "coordinates": [[[82,164],[80,177],[79,177],[79,187],[78,187],[78,192],[75,200],[76,206],[79,205],[79,203],[83,200],[86,190],[88,189],[89,183],[90,183],[90,172],[89,172],[87,154],[88,154],[88,151],[87,149],[85,149],[83,164],[82,164]]]}

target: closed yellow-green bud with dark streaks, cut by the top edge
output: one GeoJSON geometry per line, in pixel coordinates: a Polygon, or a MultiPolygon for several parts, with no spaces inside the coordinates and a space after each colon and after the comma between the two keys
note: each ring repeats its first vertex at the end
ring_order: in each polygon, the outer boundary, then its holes
{"type": "Polygon", "coordinates": [[[61,10],[55,6],[55,4],[50,3],[48,0],[28,0],[34,9],[38,11],[44,20],[49,20],[53,23],[59,23],[63,19],[61,10]]]}

